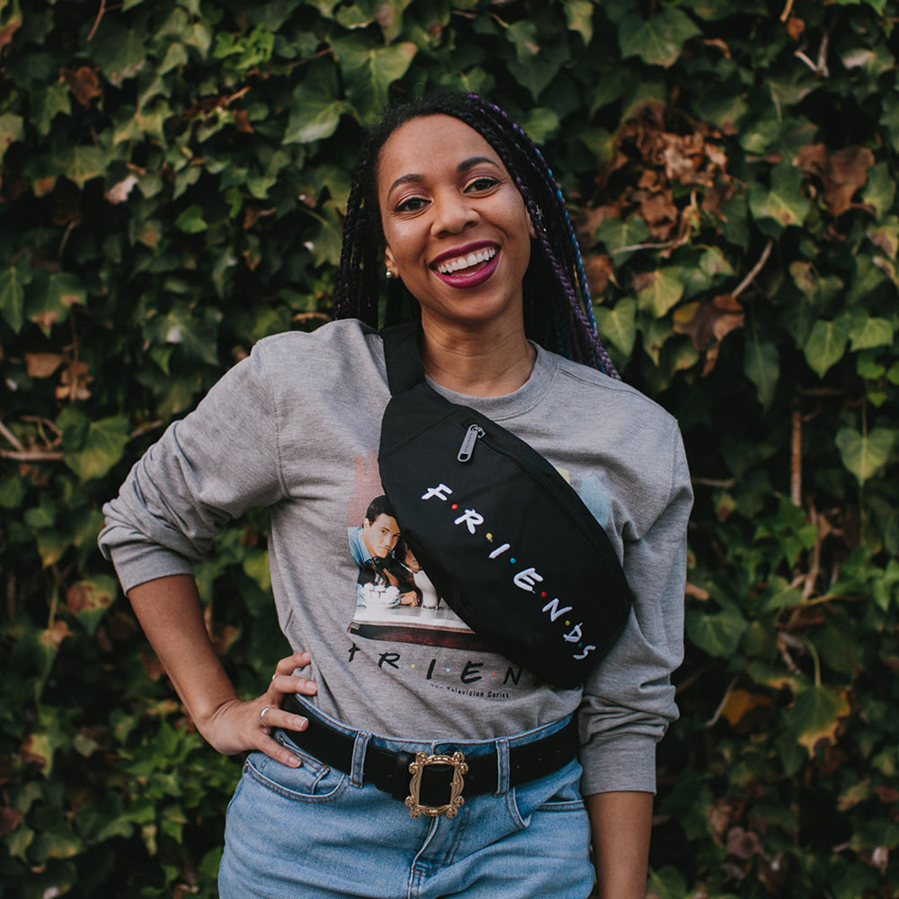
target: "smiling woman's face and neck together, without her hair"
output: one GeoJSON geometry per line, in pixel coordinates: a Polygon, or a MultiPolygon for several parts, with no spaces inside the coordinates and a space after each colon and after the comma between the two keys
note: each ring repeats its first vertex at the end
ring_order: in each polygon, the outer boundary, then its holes
{"type": "Polygon", "coordinates": [[[447,115],[407,121],[378,156],[378,207],[387,270],[421,307],[425,368],[476,396],[521,387],[533,363],[522,289],[536,233],[493,148],[447,115]]]}

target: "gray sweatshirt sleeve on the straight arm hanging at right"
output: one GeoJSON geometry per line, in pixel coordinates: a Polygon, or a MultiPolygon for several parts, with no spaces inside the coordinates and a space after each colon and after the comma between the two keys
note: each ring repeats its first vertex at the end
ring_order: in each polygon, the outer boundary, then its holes
{"type": "Polygon", "coordinates": [[[645,531],[625,539],[634,595],[628,623],[584,685],[580,710],[583,795],[655,792],[655,744],[678,717],[672,672],[683,658],[687,521],[693,494],[673,428],[667,501],[645,531]]]}

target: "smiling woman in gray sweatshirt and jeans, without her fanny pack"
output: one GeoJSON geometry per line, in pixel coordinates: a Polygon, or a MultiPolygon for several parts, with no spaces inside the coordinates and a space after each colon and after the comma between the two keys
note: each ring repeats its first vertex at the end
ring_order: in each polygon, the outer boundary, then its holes
{"type": "Polygon", "coordinates": [[[103,551],[200,733],[251,751],[221,895],[583,897],[592,832],[600,895],[644,896],[654,746],[677,714],[689,476],[676,423],[602,350],[564,201],[503,111],[441,95],[387,113],[353,181],[337,299],[342,320],[257,344],[105,507],[103,551]],[[464,627],[349,627],[347,528],[383,493],[385,267],[385,317],[420,315],[432,387],[538,449],[609,533],[634,610],[583,689],[538,681],[464,627]],[[297,653],[241,701],[191,565],[251,505],[270,508],[297,653]],[[418,794],[416,752],[446,757],[424,771],[445,781],[439,798],[418,794]],[[458,780],[461,805],[445,799],[458,780]]]}

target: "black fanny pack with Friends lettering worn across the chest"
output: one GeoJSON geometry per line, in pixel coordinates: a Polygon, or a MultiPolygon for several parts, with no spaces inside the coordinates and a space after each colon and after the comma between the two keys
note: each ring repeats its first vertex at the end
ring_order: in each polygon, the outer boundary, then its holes
{"type": "Polygon", "coordinates": [[[547,459],[428,386],[419,330],[382,332],[392,397],[378,467],[403,539],[495,651],[543,681],[577,687],[628,619],[618,556],[547,459]]]}

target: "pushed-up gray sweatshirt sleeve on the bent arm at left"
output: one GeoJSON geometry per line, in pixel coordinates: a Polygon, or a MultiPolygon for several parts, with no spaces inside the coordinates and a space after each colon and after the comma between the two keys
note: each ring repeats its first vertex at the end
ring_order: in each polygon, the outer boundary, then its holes
{"type": "Polygon", "coordinates": [[[157,577],[190,574],[228,521],[284,495],[263,360],[257,344],[194,412],[166,429],[103,506],[100,548],[125,592],[157,577]]]}

